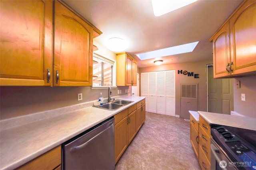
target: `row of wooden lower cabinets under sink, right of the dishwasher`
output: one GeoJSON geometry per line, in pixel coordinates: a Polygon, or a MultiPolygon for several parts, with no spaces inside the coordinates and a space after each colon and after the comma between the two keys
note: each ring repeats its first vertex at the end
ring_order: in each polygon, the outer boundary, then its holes
{"type": "Polygon", "coordinates": [[[143,102],[142,105],[134,104],[114,115],[115,163],[118,162],[146,119],[145,100],[143,102]]]}

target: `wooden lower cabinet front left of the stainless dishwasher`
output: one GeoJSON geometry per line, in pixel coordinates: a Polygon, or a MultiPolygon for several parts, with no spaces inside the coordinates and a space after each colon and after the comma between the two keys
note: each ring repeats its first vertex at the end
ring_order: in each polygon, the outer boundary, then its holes
{"type": "Polygon", "coordinates": [[[18,170],[52,170],[61,164],[61,146],[58,146],[34,160],[20,166],[18,170]]]}

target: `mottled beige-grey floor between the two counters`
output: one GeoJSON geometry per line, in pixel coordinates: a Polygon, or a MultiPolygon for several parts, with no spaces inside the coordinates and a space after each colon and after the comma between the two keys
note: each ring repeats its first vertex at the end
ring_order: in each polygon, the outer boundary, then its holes
{"type": "Polygon", "coordinates": [[[115,170],[200,170],[190,143],[190,122],[146,112],[146,121],[115,170]]]}

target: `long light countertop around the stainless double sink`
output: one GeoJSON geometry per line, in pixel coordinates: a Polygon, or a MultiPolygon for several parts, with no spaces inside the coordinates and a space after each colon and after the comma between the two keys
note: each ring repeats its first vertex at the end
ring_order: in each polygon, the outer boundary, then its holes
{"type": "Polygon", "coordinates": [[[18,168],[144,98],[126,96],[134,102],[115,111],[92,102],[0,121],[0,169],[18,168]]]}

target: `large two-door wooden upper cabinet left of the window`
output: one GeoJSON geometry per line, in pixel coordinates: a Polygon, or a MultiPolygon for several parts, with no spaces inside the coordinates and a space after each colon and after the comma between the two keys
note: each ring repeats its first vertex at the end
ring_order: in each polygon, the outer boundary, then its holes
{"type": "Polygon", "coordinates": [[[102,32],[64,2],[0,1],[0,17],[1,86],[92,86],[102,32]]]}

